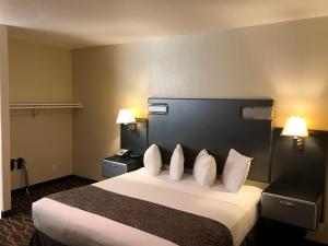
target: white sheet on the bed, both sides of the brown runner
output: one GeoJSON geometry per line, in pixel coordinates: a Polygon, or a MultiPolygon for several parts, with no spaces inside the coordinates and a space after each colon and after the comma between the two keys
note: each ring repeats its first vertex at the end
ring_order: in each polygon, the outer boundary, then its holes
{"type": "MultiPolygon", "coordinates": [[[[261,189],[255,186],[244,185],[237,194],[232,194],[219,180],[207,188],[199,186],[191,175],[184,175],[181,180],[173,181],[168,172],[150,176],[144,168],[94,186],[216,220],[232,232],[236,246],[255,225],[261,196],[261,189]]],[[[33,218],[38,230],[67,245],[175,245],[147,232],[48,198],[33,203],[33,218]]]]}

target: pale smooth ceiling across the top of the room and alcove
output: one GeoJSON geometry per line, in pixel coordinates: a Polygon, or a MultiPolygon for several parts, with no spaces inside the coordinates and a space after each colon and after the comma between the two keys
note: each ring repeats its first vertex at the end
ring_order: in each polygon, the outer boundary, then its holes
{"type": "Polygon", "coordinates": [[[328,0],[0,0],[10,36],[67,48],[328,16],[328,0]]]}

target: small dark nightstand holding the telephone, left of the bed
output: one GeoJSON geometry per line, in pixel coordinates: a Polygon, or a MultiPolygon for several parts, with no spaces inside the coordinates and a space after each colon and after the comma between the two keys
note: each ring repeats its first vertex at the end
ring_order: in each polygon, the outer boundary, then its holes
{"type": "Polygon", "coordinates": [[[102,160],[102,174],[104,177],[115,177],[143,166],[142,159],[129,156],[110,156],[102,160]]]}

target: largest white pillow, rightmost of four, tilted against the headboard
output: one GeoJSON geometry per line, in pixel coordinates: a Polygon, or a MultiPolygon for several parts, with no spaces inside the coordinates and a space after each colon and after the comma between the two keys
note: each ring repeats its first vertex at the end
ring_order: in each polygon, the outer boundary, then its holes
{"type": "Polygon", "coordinates": [[[237,192],[244,185],[251,160],[234,149],[230,150],[222,173],[222,183],[230,191],[237,192]]]}

